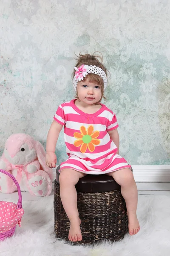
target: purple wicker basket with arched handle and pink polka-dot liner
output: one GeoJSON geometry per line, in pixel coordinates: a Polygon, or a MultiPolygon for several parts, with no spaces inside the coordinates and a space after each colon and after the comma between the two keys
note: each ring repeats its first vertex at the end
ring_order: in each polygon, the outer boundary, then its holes
{"type": "Polygon", "coordinates": [[[22,195],[17,180],[9,172],[0,169],[0,172],[8,175],[14,181],[18,190],[18,203],[0,201],[0,241],[14,235],[17,224],[20,226],[24,210],[22,209],[22,195]]]}

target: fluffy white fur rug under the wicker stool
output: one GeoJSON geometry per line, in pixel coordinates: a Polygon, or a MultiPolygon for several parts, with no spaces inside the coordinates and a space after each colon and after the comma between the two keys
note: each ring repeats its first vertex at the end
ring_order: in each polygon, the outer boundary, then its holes
{"type": "MultiPolygon", "coordinates": [[[[8,200],[9,201],[9,200],[8,200]]],[[[140,232],[94,247],[71,246],[54,235],[53,197],[23,201],[21,228],[0,242],[0,256],[170,256],[170,196],[139,195],[140,232]]]]}

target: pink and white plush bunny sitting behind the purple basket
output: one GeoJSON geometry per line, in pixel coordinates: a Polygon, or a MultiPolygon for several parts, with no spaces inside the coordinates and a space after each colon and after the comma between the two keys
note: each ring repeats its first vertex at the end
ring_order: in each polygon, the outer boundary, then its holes
{"type": "MultiPolygon", "coordinates": [[[[21,191],[37,196],[51,194],[53,171],[45,164],[45,149],[28,134],[12,134],[6,140],[0,169],[14,175],[21,191]]],[[[0,173],[0,192],[14,191],[17,187],[11,178],[0,173]]]]}

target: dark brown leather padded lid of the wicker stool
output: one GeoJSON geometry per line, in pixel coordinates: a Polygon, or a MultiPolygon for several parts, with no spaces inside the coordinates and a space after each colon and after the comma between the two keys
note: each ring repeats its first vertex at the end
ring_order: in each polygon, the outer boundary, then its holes
{"type": "MultiPolygon", "coordinates": [[[[59,169],[56,169],[56,181],[59,184],[59,169]]],[[[101,174],[91,175],[88,174],[85,177],[79,179],[75,185],[77,192],[96,193],[96,192],[109,192],[113,190],[119,190],[120,185],[116,183],[113,177],[101,174]]]]}

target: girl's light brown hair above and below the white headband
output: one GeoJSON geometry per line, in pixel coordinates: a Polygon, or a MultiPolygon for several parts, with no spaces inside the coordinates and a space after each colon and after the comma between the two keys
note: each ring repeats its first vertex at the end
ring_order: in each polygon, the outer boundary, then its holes
{"type": "MultiPolygon", "coordinates": [[[[82,55],[81,53],[79,53],[79,56],[76,55],[77,56],[77,58],[76,58],[77,59],[77,64],[76,64],[75,67],[80,67],[82,64],[84,64],[84,65],[93,65],[93,66],[95,65],[96,67],[100,67],[103,71],[105,71],[105,74],[107,76],[108,70],[102,64],[102,61],[103,61],[102,53],[101,52],[99,52],[99,53],[101,54],[101,56],[97,55],[96,52],[94,52],[93,55],[90,55],[88,53],[86,53],[85,55],[82,55]],[[100,61],[98,60],[98,58],[100,59],[100,61]]],[[[73,78],[74,78],[74,74],[75,74],[75,70],[72,73],[73,78]]],[[[87,76],[85,76],[83,81],[86,81],[86,79],[89,79],[90,82],[94,82],[94,83],[99,85],[99,87],[101,88],[101,91],[102,91],[102,97],[106,100],[106,98],[104,96],[104,83],[103,83],[102,77],[99,76],[99,75],[90,73],[87,76]]],[[[101,102],[102,97],[99,100],[99,102],[101,102]]],[[[75,95],[75,98],[78,99],[77,93],[75,95]]]]}

